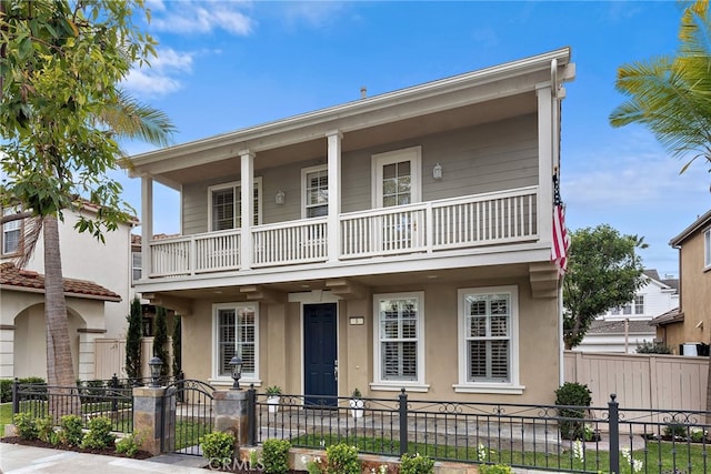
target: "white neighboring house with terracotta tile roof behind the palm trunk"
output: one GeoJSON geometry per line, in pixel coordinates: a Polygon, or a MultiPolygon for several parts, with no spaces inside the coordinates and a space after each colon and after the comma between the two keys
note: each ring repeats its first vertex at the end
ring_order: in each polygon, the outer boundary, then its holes
{"type": "MultiPolygon", "coordinates": [[[[84,204],[81,212],[92,213],[96,209],[84,204]]],[[[137,222],[120,224],[116,231],[107,232],[106,244],[102,244],[89,232],[78,233],[73,229],[78,220],[79,214],[64,211],[64,221],[59,222],[59,239],[74,370],[78,377],[88,380],[94,377],[93,341],[126,335],[132,297],[130,233],[137,222]],[[79,291],[77,285],[90,290],[79,291]]],[[[0,377],[47,374],[41,236],[27,265],[23,269],[14,266],[23,250],[26,225],[29,225],[27,220],[8,222],[2,225],[0,236],[0,377]],[[42,330],[29,331],[30,327],[42,330]]]]}

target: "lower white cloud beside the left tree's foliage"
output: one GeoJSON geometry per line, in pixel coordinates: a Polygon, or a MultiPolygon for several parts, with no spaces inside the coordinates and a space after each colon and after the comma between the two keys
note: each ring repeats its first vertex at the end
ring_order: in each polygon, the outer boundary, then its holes
{"type": "Polygon", "coordinates": [[[192,71],[192,53],[178,52],[173,49],[159,49],[158,58],[153,58],[150,67],[133,68],[123,85],[127,90],[142,97],[167,95],[181,89],[181,83],[173,75],[192,71]]]}

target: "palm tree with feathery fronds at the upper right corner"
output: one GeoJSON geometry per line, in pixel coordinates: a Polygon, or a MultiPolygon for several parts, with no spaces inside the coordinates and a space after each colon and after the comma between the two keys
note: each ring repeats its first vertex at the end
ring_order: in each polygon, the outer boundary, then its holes
{"type": "MultiPolygon", "coordinates": [[[[711,11],[708,0],[687,7],[675,57],[621,65],[617,89],[629,99],[610,114],[613,127],[641,123],[674,157],[702,158],[711,172],[711,11]]],[[[711,357],[707,385],[711,411],[711,357]]],[[[711,423],[711,413],[707,414],[711,423]]]]}

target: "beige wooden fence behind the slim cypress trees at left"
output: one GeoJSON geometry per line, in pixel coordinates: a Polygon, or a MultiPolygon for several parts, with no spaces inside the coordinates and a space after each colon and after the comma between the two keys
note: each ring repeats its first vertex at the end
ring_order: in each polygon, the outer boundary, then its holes
{"type": "MultiPolygon", "coordinates": [[[[141,337],[141,376],[149,377],[148,361],[153,356],[153,337],[141,337]]],[[[171,337],[168,337],[168,364],[169,375],[172,375],[173,346],[171,337]]],[[[126,379],[126,340],[124,339],[97,339],[93,352],[93,376],[97,380],[109,380],[116,374],[119,379],[126,379]]]]}

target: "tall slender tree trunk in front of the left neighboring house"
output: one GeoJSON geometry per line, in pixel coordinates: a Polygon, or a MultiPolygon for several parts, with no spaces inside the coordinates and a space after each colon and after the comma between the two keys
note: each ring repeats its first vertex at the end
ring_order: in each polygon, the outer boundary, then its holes
{"type": "MultiPolygon", "coordinates": [[[[47,324],[47,383],[49,386],[64,387],[61,394],[73,392],[74,365],[71,357],[69,339],[69,320],[64,283],[62,276],[62,259],[59,249],[59,224],[57,218],[43,219],[42,235],[44,238],[44,321],[47,324]]],[[[54,392],[54,390],[52,390],[54,392]]],[[[78,400],[73,397],[52,397],[50,412],[56,418],[69,413],[78,413],[78,400]]]]}

